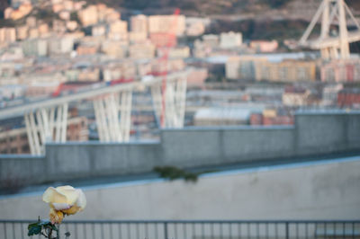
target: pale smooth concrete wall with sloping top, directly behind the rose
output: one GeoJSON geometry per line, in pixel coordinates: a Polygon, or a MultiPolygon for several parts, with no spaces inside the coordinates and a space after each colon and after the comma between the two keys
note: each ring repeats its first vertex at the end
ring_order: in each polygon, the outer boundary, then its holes
{"type": "MultiPolygon", "coordinates": [[[[208,173],[196,183],[135,181],[83,188],[69,219],[359,219],[360,156],[208,173]]],[[[0,218],[47,218],[40,190],[0,197],[0,218]],[[31,207],[30,207],[31,206],[31,207]]]]}

